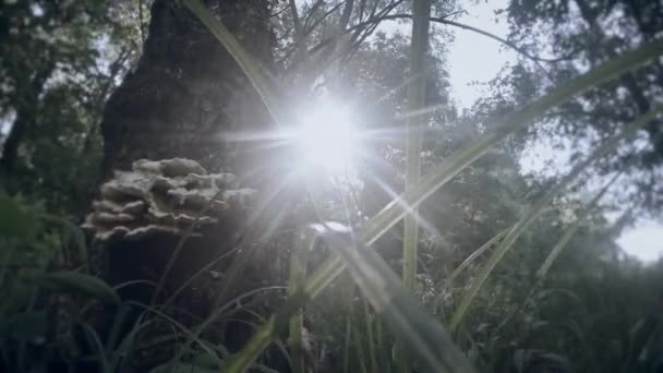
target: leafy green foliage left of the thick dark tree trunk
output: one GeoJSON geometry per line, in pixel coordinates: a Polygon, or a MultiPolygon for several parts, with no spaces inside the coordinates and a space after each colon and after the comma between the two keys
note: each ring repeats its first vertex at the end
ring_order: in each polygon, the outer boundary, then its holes
{"type": "Polygon", "coordinates": [[[0,9],[0,186],[7,192],[68,216],[87,208],[104,103],[135,49],[124,7],[76,0],[0,9]]]}

